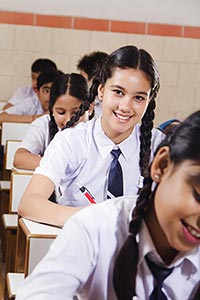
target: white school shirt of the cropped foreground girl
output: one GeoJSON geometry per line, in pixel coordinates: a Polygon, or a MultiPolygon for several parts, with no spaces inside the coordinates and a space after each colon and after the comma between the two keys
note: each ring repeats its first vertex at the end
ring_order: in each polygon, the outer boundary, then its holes
{"type": "MultiPolygon", "coordinates": [[[[120,197],[73,215],[17,292],[16,300],[117,300],[113,287],[116,257],[128,236],[136,196],[120,197]]],[[[143,224],[144,225],[144,224],[143,224]]],[[[139,234],[138,300],[149,299],[153,277],[144,260],[152,240],[146,226],[139,234]],[[143,249],[144,247],[144,249],[143,249]]],[[[176,262],[165,280],[168,300],[187,300],[200,278],[200,247],[176,262]]]]}

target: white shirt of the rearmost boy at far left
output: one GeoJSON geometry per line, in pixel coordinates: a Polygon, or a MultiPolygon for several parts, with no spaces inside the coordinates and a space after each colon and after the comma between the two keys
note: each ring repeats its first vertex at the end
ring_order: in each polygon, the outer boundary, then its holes
{"type": "Polygon", "coordinates": [[[8,103],[10,103],[12,105],[16,105],[16,104],[20,103],[23,99],[29,98],[29,97],[38,99],[38,96],[34,92],[32,86],[20,87],[16,90],[16,92],[8,100],[8,103]]]}

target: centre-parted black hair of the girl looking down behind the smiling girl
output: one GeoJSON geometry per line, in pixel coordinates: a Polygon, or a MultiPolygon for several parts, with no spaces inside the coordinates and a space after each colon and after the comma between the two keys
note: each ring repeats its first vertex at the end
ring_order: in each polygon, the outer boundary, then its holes
{"type": "Polygon", "coordinates": [[[49,101],[49,132],[50,141],[53,139],[56,132],[58,132],[58,126],[53,116],[53,106],[58,97],[68,93],[70,96],[79,99],[84,102],[87,101],[88,97],[88,84],[86,79],[76,73],[62,74],[57,77],[50,89],[50,101],[49,101]]]}

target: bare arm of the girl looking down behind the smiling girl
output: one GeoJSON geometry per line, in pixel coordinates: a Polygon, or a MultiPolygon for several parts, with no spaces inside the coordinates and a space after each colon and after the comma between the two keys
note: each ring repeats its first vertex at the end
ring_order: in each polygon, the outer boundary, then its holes
{"type": "Polygon", "coordinates": [[[40,155],[32,154],[25,148],[19,148],[15,153],[13,165],[18,169],[35,170],[41,158],[40,155]]]}

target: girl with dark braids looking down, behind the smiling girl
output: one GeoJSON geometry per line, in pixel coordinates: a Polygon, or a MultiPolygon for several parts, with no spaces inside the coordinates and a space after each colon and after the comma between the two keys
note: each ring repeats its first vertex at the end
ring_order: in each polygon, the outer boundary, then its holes
{"type": "MultiPolygon", "coordinates": [[[[35,170],[54,135],[66,125],[87,96],[88,85],[82,75],[72,73],[58,76],[50,89],[49,114],[31,123],[21,147],[15,153],[14,166],[35,170]]],[[[79,121],[87,119],[85,113],[79,121]]]]}

